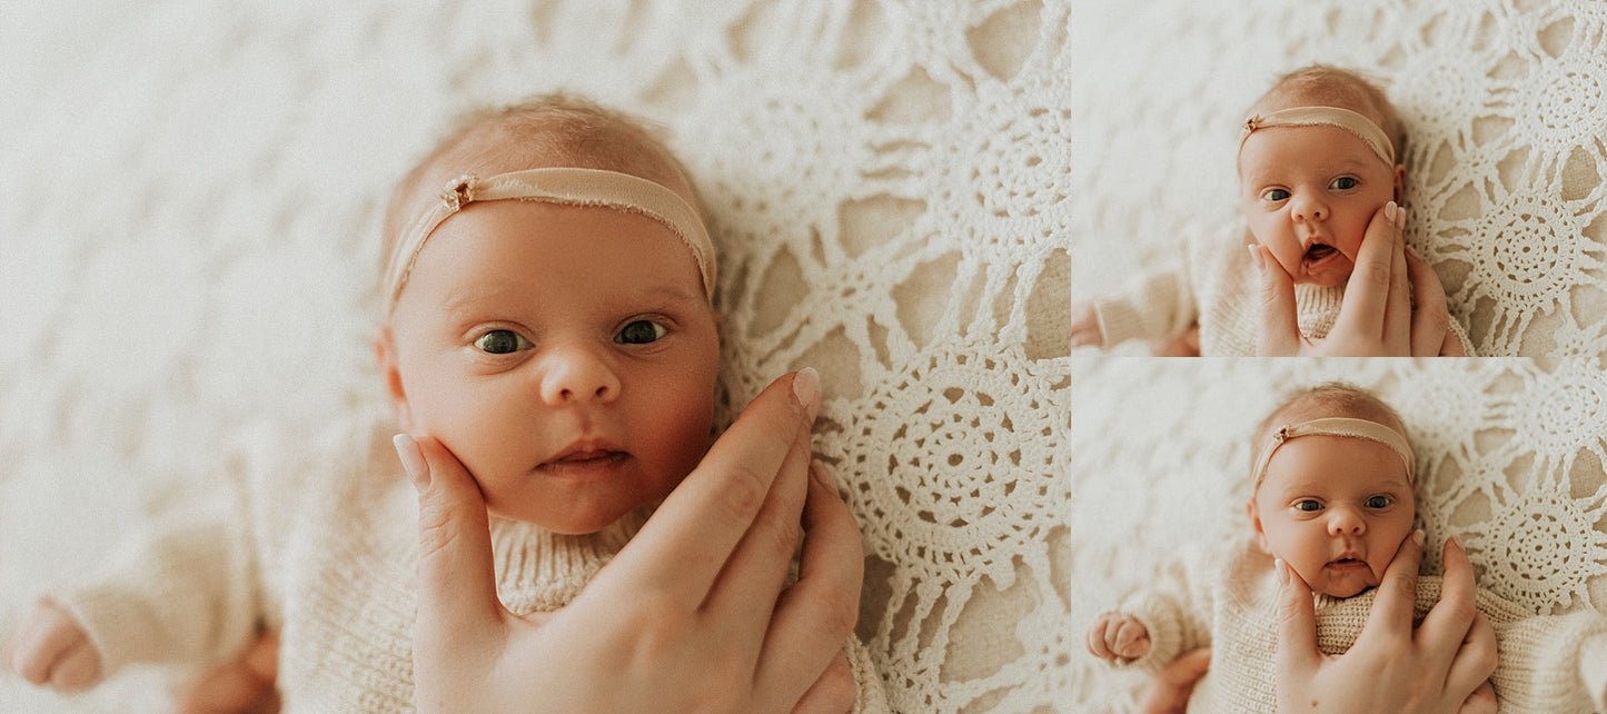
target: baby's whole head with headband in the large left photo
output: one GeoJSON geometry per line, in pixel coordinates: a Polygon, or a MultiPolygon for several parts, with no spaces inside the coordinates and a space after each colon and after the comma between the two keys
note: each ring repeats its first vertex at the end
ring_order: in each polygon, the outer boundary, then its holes
{"type": "Polygon", "coordinates": [[[714,252],[691,180],[632,117],[567,95],[469,116],[397,187],[384,256],[397,418],[492,513],[595,532],[702,458],[714,252]]]}

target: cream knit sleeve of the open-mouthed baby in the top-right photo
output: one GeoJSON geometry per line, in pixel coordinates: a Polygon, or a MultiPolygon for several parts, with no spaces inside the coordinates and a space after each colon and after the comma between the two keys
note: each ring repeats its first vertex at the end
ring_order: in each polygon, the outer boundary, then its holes
{"type": "Polygon", "coordinates": [[[1094,314],[1104,347],[1128,339],[1160,346],[1176,339],[1199,318],[1186,267],[1139,275],[1122,293],[1094,299],[1094,314]]]}

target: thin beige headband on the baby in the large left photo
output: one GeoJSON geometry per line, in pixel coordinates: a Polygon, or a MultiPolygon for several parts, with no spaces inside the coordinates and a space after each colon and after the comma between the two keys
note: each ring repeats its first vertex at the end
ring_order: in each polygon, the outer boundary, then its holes
{"type": "Polygon", "coordinates": [[[641,214],[675,232],[693,251],[697,272],[702,275],[704,296],[714,299],[714,244],[697,211],[678,193],[630,174],[598,169],[529,169],[497,174],[480,178],[464,174],[453,178],[440,191],[440,203],[431,206],[402,230],[386,267],[386,298],[395,307],[413,275],[418,252],[424,249],[431,233],[452,214],[476,201],[540,201],[564,206],[603,206],[630,214],[641,214]]]}

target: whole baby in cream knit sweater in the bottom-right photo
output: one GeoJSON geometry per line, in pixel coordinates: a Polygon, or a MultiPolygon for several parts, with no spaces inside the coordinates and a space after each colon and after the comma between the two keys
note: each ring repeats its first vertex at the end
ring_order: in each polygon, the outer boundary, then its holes
{"type": "MultiPolygon", "coordinates": [[[[1276,711],[1274,558],[1311,587],[1318,646],[1339,654],[1414,537],[1416,458],[1400,416],[1377,397],[1347,384],[1306,389],[1260,425],[1255,444],[1253,539],[1168,566],[1160,584],[1088,629],[1088,650],[1120,666],[1160,669],[1210,646],[1191,711],[1276,711]]],[[[1438,597],[1440,579],[1419,577],[1419,621],[1438,597]]],[[[1535,616],[1483,590],[1477,606],[1496,632],[1490,680],[1501,711],[1602,711],[1607,618],[1535,616]]]]}

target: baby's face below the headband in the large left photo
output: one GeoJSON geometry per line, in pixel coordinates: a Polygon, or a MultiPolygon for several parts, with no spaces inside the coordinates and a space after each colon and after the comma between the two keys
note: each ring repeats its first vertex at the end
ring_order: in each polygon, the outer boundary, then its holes
{"type": "Polygon", "coordinates": [[[709,445],[718,322],[691,251],[646,215],[476,203],[419,251],[391,338],[403,425],[498,516],[595,532],[709,445]]]}

